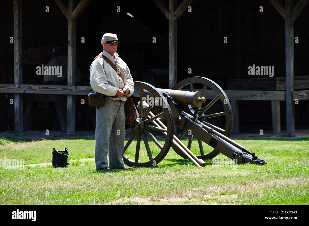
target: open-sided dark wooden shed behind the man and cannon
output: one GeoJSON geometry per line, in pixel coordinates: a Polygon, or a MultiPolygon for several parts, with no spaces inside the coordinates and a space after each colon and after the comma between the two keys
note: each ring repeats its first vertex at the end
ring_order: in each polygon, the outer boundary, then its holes
{"type": "Polygon", "coordinates": [[[109,32],[121,40],[117,52],[134,80],[171,88],[185,77],[210,78],[231,101],[235,133],[265,123],[274,132],[286,125],[292,137],[295,124],[309,128],[307,2],[1,1],[0,129],[93,129],[89,67],[109,32]],[[37,73],[53,60],[67,67],[65,76],[37,73]]]}

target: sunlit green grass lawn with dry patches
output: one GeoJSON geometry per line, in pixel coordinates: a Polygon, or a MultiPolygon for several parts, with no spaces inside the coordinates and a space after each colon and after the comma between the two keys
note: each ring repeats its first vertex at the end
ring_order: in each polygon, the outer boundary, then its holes
{"type": "MultiPolygon", "coordinates": [[[[219,167],[224,164],[205,160],[207,165],[197,168],[171,149],[156,167],[134,167],[133,171],[100,173],[89,161],[72,162],[67,168],[2,168],[0,204],[309,204],[309,138],[235,141],[267,165],[219,167]]],[[[155,152],[156,146],[149,143],[155,152]]],[[[70,150],[69,159],[94,158],[95,140],[0,138],[0,159],[51,162],[52,149],[65,147],[70,150]]],[[[192,148],[198,149],[197,140],[192,148]]],[[[206,150],[211,149],[205,146],[206,150]]],[[[146,158],[143,151],[141,158],[146,158]]],[[[219,154],[217,158],[226,157],[219,154]]]]}

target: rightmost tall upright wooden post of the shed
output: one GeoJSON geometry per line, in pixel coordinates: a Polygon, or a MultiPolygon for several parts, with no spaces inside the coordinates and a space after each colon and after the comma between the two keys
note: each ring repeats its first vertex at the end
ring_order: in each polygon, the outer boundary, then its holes
{"type": "Polygon", "coordinates": [[[294,92],[294,25],[293,0],[285,1],[285,28],[286,28],[286,134],[294,137],[295,134],[295,103],[294,92]]]}

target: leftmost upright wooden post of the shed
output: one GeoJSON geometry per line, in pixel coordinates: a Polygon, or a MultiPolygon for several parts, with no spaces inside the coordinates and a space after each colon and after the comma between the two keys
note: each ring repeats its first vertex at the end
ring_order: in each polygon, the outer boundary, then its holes
{"type": "MultiPolygon", "coordinates": [[[[20,56],[23,54],[22,43],[22,2],[14,0],[14,83],[23,84],[23,67],[20,56]]],[[[17,86],[17,85],[16,85],[17,86]]],[[[14,94],[15,133],[23,131],[23,96],[14,94]]]]}

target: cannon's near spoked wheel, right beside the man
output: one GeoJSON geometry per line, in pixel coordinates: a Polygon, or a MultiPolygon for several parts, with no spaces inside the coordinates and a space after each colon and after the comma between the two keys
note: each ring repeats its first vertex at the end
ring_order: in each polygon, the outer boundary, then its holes
{"type": "Polygon", "coordinates": [[[145,82],[134,82],[133,96],[142,104],[137,109],[139,116],[136,121],[125,131],[129,140],[125,142],[123,161],[128,166],[156,166],[166,156],[173,140],[171,108],[163,95],[145,82]],[[165,128],[158,126],[157,120],[165,128]],[[134,138],[136,142],[133,142],[134,138]]]}

